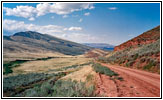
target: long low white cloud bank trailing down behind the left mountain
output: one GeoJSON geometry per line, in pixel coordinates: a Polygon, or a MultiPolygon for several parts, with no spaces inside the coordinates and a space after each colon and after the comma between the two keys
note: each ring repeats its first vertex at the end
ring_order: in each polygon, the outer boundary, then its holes
{"type": "Polygon", "coordinates": [[[3,21],[3,29],[12,33],[20,31],[37,31],[43,34],[53,35],[66,40],[83,43],[83,42],[97,42],[101,39],[96,36],[84,33],[74,33],[72,31],[82,30],[81,27],[70,27],[65,28],[63,26],[57,25],[35,25],[35,24],[25,24],[23,21],[9,20],[5,19],[3,21]]]}

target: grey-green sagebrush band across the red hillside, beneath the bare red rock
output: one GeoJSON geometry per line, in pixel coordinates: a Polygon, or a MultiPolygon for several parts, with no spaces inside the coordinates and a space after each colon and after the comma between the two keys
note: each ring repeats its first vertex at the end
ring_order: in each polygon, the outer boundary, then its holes
{"type": "Polygon", "coordinates": [[[146,61],[150,62],[147,57],[151,57],[154,54],[158,54],[160,52],[160,39],[158,39],[156,42],[150,43],[150,44],[144,44],[139,45],[138,48],[126,48],[121,51],[114,52],[112,56],[109,56],[106,58],[107,62],[109,63],[118,63],[122,64],[126,61],[128,63],[125,64],[125,66],[132,66],[134,61],[138,58],[140,59],[140,63],[144,63],[146,61]],[[145,56],[145,58],[144,58],[145,56]]]}

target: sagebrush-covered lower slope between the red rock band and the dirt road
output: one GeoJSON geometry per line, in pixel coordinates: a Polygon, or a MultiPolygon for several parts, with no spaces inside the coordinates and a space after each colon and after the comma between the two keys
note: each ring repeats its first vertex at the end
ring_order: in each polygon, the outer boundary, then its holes
{"type": "Polygon", "coordinates": [[[159,73],[159,55],[160,40],[158,39],[156,42],[151,44],[139,45],[138,48],[131,47],[121,51],[116,51],[109,57],[99,57],[98,61],[159,73]]]}

